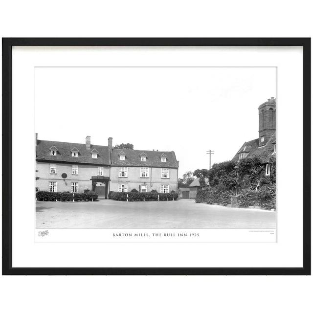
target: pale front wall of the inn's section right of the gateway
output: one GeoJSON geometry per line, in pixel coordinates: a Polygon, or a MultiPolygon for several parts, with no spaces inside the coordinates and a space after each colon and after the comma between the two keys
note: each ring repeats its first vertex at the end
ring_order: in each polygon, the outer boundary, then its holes
{"type": "MultiPolygon", "coordinates": [[[[128,191],[147,184],[147,191],[156,189],[160,192],[161,184],[169,185],[169,192],[177,191],[178,169],[170,168],[170,178],[161,178],[161,168],[150,167],[149,178],[140,178],[140,167],[128,167],[128,177],[118,177],[118,166],[111,167],[110,191],[118,191],[118,184],[128,183],[128,191]]],[[[139,190],[138,190],[139,191],[139,190]]]]}

